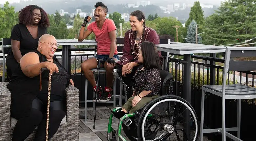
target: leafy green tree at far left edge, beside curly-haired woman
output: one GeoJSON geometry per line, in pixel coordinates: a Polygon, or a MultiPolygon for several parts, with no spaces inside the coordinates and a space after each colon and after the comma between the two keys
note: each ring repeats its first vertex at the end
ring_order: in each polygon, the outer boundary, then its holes
{"type": "Polygon", "coordinates": [[[13,26],[18,23],[18,13],[9,6],[9,2],[0,7],[0,23],[0,38],[10,38],[13,26]]]}

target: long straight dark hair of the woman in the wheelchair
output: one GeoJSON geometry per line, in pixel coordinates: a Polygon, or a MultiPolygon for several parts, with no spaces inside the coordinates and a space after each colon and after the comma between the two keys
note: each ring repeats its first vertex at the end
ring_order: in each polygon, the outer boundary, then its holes
{"type": "Polygon", "coordinates": [[[160,59],[156,45],[153,42],[145,41],[141,43],[140,49],[145,70],[150,70],[152,68],[160,70],[160,59]]]}

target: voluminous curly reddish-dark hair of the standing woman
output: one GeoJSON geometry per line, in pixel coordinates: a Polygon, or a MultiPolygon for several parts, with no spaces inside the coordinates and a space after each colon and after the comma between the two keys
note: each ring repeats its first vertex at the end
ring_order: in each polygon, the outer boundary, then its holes
{"type": "Polygon", "coordinates": [[[41,20],[39,21],[38,26],[49,27],[50,22],[47,13],[43,10],[43,8],[37,5],[28,5],[25,8],[21,9],[19,11],[19,22],[24,25],[32,25],[34,9],[39,9],[41,12],[41,20]]]}

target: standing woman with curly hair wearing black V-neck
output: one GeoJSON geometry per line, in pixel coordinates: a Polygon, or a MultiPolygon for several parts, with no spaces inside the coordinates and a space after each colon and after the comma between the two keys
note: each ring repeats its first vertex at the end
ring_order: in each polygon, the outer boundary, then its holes
{"type": "Polygon", "coordinates": [[[11,31],[11,50],[6,56],[7,75],[11,77],[20,58],[36,50],[38,39],[47,34],[49,26],[47,13],[39,6],[29,5],[19,11],[19,24],[11,31]]]}

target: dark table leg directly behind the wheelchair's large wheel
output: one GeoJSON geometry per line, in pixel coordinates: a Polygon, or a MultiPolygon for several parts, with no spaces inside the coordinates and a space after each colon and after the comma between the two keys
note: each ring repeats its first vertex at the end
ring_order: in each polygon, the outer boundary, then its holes
{"type": "MultiPolygon", "coordinates": [[[[184,99],[191,103],[191,54],[184,54],[184,61],[187,61],[187,64],[184,64],[184,99]]],[[[185,108],[185,106],[184,106],[185,108]]],[[[190,136],[190,114],[189,110],[184,112],[184,123],[185,123],[185,133],[190,136]]],[[[184,136],[186,135],[184,133],[184,136]]],[[[185,141],[185,138],[184,138],[185,141]]]]}

